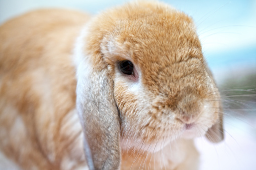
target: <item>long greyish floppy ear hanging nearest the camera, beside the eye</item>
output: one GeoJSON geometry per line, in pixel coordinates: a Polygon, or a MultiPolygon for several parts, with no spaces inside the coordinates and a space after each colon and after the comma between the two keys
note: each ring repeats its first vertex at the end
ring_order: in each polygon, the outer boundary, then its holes
{"type": "MultiPolygon", "coordinates": [[[[103,66],[103,63],[99,63],[103,66]]],[[[120,122],[107,68],[88,61],[77,68],[76,108],[84,132],[84,151],[90,169],[119,169],[120,122]]]]}

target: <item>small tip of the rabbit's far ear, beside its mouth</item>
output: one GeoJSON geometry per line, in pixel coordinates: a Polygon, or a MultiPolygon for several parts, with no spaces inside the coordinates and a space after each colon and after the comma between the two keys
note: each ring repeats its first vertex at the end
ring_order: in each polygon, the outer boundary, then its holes
{"type": "Polygon", "coordinates": [[[223,113],[222,107],[219,108],[219,118],[216,123],[208,129],[205,136],[213,143],[220,142],[224,139],[223,131],[223,113]]]}

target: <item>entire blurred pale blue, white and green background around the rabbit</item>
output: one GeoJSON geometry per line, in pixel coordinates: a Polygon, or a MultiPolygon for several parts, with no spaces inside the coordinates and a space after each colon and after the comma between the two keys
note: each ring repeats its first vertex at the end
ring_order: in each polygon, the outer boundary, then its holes
{"type": "MultiPolygon", "coordinates": [[[[67,8],[93,15],[124,0],[0,0],[0,24],[41,8],[67,8]]],[[[220,88],[225,141],[196,140],[201,170],[256,169],[256,1],[162,1],[191,16],[203,53],[220,88]]]]}

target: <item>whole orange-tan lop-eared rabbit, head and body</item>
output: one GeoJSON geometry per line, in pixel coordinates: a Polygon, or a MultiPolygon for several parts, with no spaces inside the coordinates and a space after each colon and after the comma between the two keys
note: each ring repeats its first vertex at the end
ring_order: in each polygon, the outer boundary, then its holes
{"type": "Polygon", "coordinates": [[[17,169],[198,169],[193,139],[224,138],[193,20],[169,5],[37,10],[0,41],[0,153],[17,169]]]}

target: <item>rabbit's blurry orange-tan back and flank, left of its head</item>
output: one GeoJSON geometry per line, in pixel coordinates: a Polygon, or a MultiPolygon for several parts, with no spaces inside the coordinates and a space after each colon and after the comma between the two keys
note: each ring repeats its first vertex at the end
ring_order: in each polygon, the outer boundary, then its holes
{"type": "Polygon", "coordinates": [[[41,10],[0,28],[0,148],[23,169],[85,165],[70,56],[88,19],[41,10]]]}

